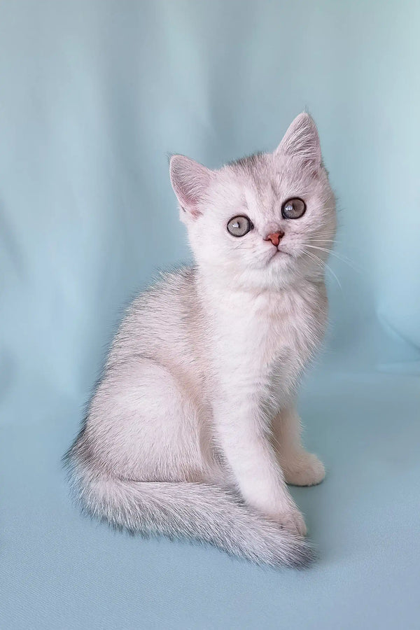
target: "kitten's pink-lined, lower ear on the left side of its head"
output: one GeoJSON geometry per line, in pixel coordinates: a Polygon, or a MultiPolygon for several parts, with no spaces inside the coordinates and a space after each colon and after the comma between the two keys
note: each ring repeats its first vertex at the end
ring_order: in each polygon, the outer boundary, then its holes
{"type": "Polygon", "coordinates": [[[214,176],[213,171],[185,155],[172,155],[169,176],[183,211],[193,218],[200,216],[200,201],[214,176]]]}

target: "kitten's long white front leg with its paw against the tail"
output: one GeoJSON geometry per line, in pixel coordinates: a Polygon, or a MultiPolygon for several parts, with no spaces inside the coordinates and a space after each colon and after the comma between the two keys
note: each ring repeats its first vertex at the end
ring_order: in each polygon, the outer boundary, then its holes
{"type": "Polygon", "coordinates": [[[290,531],[304,535],[304,519],[288,492],[255,400],[235,395],[229,402],[218,402],[214,423],[244,500],[290,531]]]}

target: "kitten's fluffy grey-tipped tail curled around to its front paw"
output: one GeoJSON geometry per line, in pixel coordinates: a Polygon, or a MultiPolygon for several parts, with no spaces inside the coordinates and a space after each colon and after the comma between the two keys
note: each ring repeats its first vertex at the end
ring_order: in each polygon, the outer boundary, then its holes
{"type": "Polygon", "coordinates": [[[229,491],[210,484],[139,482],[73,469],[83,507],[116,528],[211,543],[270,566],[303,567],[313,550],[229,491]]]}

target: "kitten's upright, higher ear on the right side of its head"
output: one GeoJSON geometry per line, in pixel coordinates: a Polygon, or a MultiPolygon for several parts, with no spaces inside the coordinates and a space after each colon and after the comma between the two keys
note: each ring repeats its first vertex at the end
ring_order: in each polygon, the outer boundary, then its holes
{"type": "Polygon", "coordinates": [[[314,120],[302,112],[293,120],[275,155],[295,155],[307,162],[321,165],[321,144],[314,120]]]}

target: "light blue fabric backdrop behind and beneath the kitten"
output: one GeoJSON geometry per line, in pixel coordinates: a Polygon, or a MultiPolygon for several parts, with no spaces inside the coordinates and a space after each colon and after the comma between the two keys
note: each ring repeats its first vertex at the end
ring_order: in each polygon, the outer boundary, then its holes
{"type": "Polygon", "coordinates": [[[419,24],[409,0],[0,4],[2,628],[419,627],[419,24]],[[166,154],[217,167],[304,108],[346,260],[301,402],[330,472],[293,490],[320,561],[82,519],[59,458],[121,310],[190,256],[166,154]]]}

